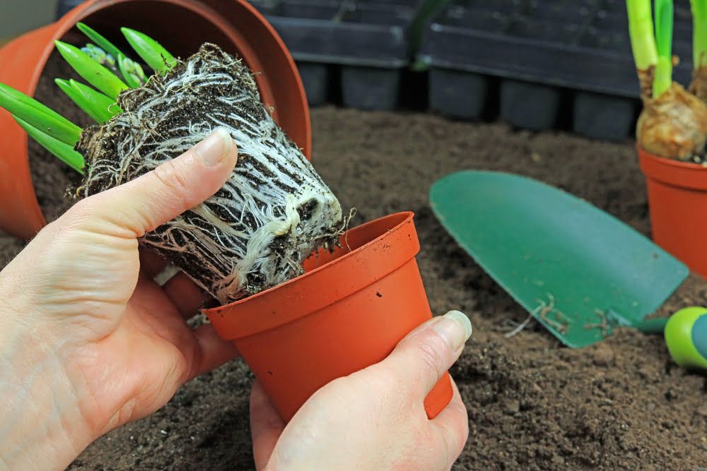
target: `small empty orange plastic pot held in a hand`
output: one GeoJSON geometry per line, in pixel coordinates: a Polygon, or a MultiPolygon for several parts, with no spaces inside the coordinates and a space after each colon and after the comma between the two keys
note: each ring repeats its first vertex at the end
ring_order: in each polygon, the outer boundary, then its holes
{"type": "MultiPolygon", "coordinates": [[[[298,278],[204,311],[286,421],[316,390],[385,359],[432,318],[415,260],[420,245],[413,213],[350,229],[341,246],[308,258],[298,278]]],[[[428,417],[451,398],[447,374],[424,401],[428,417]]]]}

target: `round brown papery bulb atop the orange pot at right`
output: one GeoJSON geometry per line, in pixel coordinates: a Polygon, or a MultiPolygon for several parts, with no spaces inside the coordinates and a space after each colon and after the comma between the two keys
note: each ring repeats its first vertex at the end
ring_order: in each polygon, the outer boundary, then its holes
{"type": "Polygon", "coordinates": [[[678,83],[658,98],[644,96],[636,139],[660,157],[687,160],[701,155],[707,140],[707,105],[678,83]]]}

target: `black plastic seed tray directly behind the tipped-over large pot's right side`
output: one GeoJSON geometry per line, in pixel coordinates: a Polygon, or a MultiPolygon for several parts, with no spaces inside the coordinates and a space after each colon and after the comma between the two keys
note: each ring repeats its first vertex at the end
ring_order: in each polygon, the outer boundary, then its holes
{"type": "Polygon", "coordinates": [[[281,0],[267,13],[298,64],[310,105],[340,84],[344,105],[394,109],[413,56],[411,27],[423,1],[281,0]]]}

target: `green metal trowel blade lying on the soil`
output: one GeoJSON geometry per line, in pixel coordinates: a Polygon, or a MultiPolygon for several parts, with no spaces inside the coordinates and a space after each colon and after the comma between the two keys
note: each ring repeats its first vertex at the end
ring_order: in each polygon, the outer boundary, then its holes
{"type": "Polygon", "coordinates": [[[465,171],[437,181],[434,213],[469,255],[569,347],[618,326],[662,332],[645,319],[689,269],[595,206],[514,174],[465,171]]]}

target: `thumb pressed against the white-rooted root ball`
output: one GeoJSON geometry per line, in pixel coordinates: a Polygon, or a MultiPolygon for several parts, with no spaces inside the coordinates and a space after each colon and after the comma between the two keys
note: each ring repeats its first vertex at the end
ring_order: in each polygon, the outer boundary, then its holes
{"type": "Polygon", "coordinates": [[[235,142],[219,128],[151,172],[86,198],[83,209],[91,219],[107,222],[112,235],[142,237],[214,195],[237,159],[235,142]]]}

